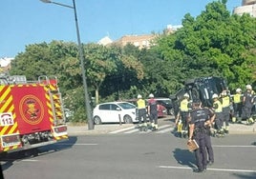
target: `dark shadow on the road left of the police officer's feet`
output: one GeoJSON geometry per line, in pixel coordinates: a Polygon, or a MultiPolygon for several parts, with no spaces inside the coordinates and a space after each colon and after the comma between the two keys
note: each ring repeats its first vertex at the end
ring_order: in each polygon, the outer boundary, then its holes
{"type": "Polygon", "coordinates": [[[196,167],[195,154],[187,149],[175,149],[173,156],[182,166],[187,166],[192,169],[196,167]]]}

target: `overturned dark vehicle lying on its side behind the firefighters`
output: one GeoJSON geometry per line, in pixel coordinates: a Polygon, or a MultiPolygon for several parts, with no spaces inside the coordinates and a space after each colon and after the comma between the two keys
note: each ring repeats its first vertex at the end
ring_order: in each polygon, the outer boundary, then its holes
{"type": "Polygon", "coordinates": [[[214,93],[219,95],[224,89],[227,89],[227,85],[222,77],[210,76],[187,80],[184,87],[171,96],[175,114],[179,110],[179,104],[184,93],[188,93],[189,99],[192,101],[200,99],[203,107],[212,107],[212,95],[214,93]]]}

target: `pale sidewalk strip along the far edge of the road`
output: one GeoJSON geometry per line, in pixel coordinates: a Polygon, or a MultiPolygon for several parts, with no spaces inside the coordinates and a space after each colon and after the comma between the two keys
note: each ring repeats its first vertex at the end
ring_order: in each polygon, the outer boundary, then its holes
{"type": "MultiPolygon", "coordinates": [[[[90,135],[90,134],[105,134],[111,131],[125,128],[133,128],[134,124],[104,124],[104,125],[95,125],[95,129],[88,129],[88,125],[74,126],[68,124],[68,133],[70,135],[90,135]]],[[[246,134],[246,133],[256,133],[256,123],[251,126],[245,124],[230,124],[229,125],[230,134],[246,134]]]]}

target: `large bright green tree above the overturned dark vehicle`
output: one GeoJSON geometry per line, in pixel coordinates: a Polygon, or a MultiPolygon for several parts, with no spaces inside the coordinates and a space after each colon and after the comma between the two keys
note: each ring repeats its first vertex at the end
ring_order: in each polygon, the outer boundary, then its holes
{"type": "MultiPolygon", "coordinates": [[[[252,83],[255,67],[255,18],[230,15],[226,1],[209,3],[196,18],[189,13],[182,28],[158,39],[157,51],[166,61],[180,61],[179,82],[188,78],[221,75],[234,89],[252,83]],[[245,55],[249,54],[249,55],[245,55]],[[247,65],[251,63],[252,66],[247,65]],[[245,69],[247,68],[247,69],[245,69]]],[[[172,66],[177,68],[175,64],[172,66]]]]}

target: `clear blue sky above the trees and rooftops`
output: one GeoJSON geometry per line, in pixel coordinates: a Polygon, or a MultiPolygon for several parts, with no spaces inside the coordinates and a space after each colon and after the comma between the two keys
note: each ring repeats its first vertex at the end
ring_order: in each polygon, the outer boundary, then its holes
{"type": "MultiPolygon", "coordinates": [[[[72,0],[54,0],[71,5],[72,0]]],[[[104,36],[161,32],[181,25],[185,13],[198,16],[213,0],[75,0],[82,43],[104,36]]],[[[242,0],[228,0],[232,13],[242,0]]],[[[63,40],[76,43],[74,10],[39,0],[3,0],[0,4],[0,58],[14,57],[30,44],[63,40]]]]}

